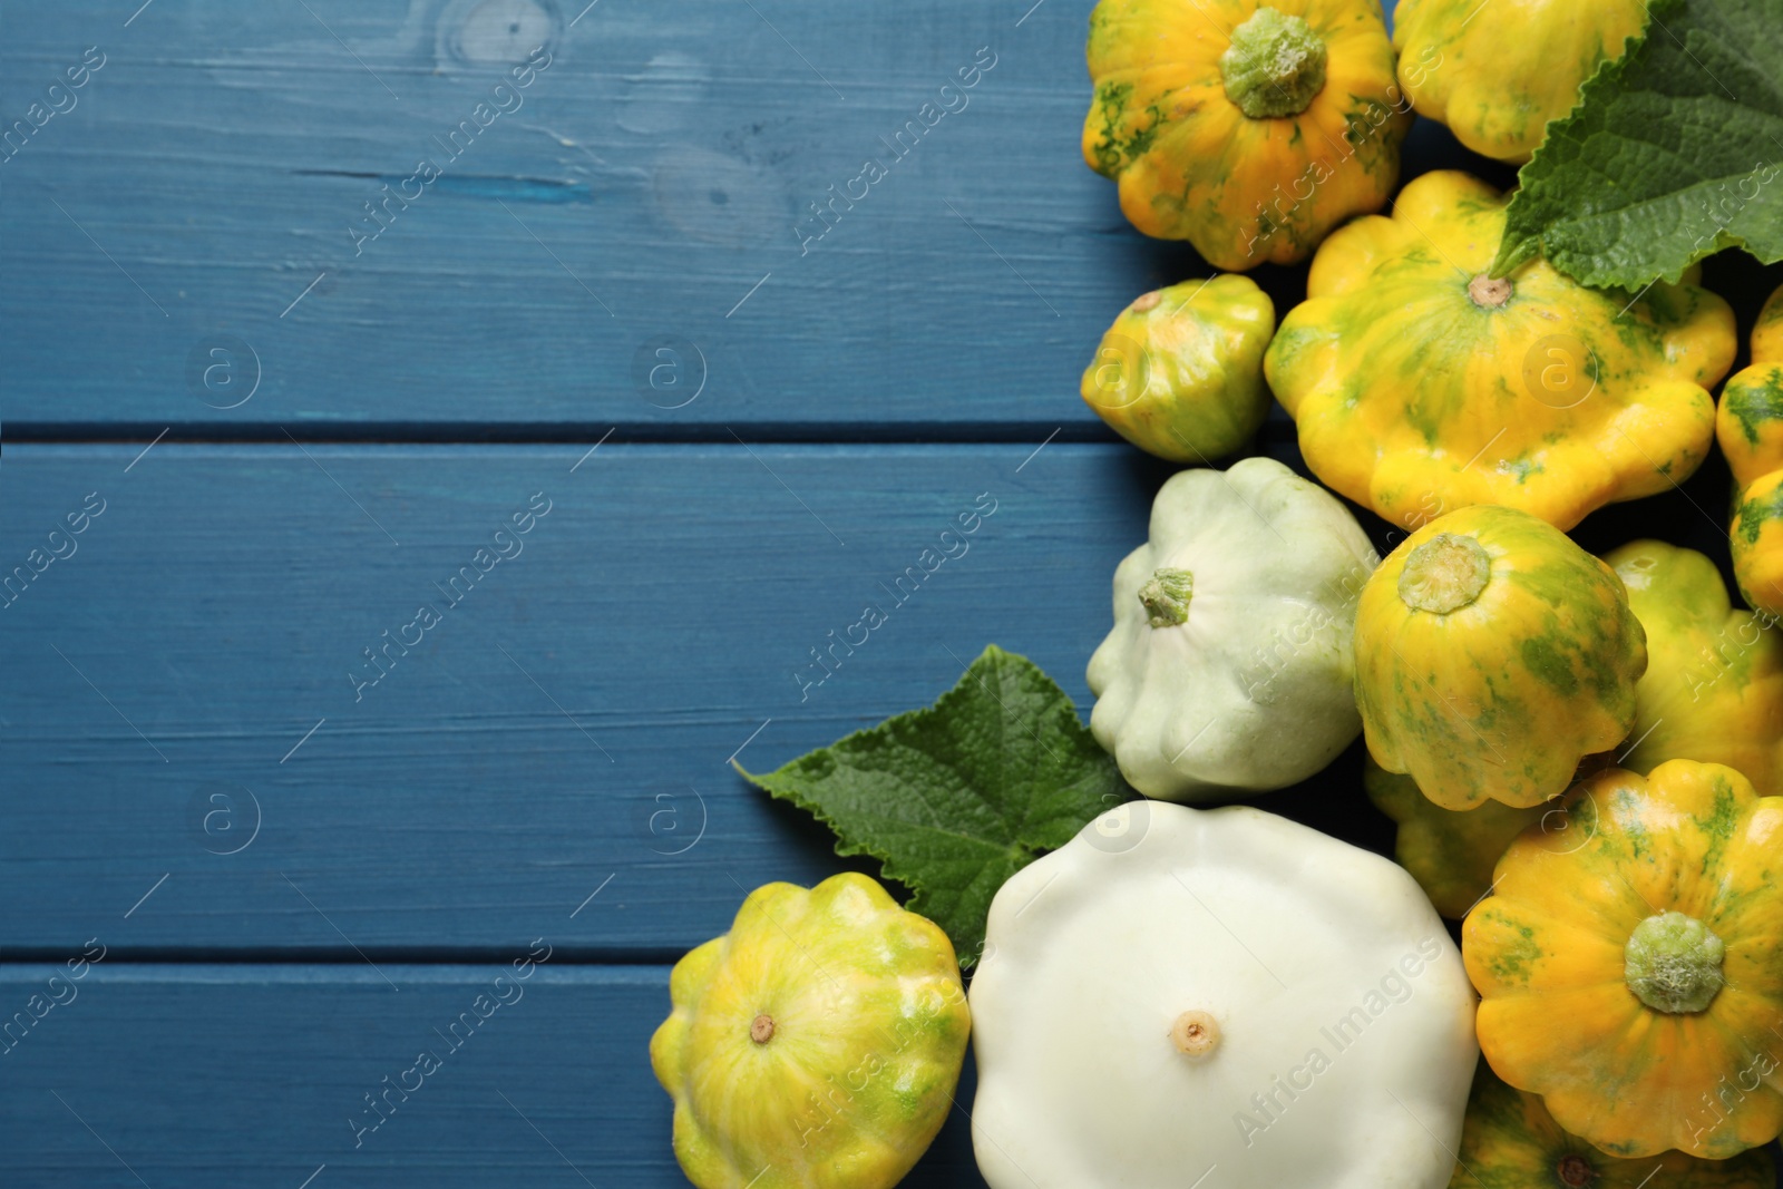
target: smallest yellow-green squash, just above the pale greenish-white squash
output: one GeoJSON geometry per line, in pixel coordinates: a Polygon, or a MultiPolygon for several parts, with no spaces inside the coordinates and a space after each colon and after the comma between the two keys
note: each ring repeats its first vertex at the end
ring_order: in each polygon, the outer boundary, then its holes
{"type": "Polygon", "coordinates": [[[1102,337],[1084,401],[1148,455],[1207,463],[1245,446],[1268,415],[1262,351],[1273,333],[1275,303],[1246,276],[1154,289],[1102,337]]]}

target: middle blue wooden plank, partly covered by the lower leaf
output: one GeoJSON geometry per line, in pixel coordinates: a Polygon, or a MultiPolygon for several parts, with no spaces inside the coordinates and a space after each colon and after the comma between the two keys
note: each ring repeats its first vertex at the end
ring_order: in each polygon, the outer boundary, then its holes
{"type": "MultiPolygon", "coordinates": [[[[1109,576],[1170,472],[1057,442],[587,449],[7,451],[0,945],[118,925],[139,954],[351,957],[553,927],[670,957],[744,890],[838,868],[733,754],[767,770],[927,704],[990,642],[1088,711],[1109,576]],[[888,619],[850,654],[868,603],[888,619]]],[[[1580,538],[1724,563],[1724,485],[1580,538]]],[[[1357,763],[1261,804],[1384,849],[1357,763]]]]}

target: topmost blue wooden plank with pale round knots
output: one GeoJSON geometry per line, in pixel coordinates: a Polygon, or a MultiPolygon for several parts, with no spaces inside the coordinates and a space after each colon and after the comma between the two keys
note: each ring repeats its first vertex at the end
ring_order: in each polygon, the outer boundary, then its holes
{"type": "Polygon", "coordinates": [[[1091,0],[1029,4],[9,9],[7,127],[68,111],[0,150],[0,412],[1093,426],[1095,337],[1193,257],[1079,157],[1091,0]]]}

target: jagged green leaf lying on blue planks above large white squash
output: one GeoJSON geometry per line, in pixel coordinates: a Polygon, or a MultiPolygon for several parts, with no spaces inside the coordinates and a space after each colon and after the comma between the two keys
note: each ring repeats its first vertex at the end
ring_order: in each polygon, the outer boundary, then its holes
{"type": "Polygon", "coordinates": [[[1134,797],[1077,708],[1025,656],[995,644],[927,709],[888,718],[756,775],[836,832],[836,854],[884,861],[909,909],[977,961],[1006,879],[1134,797]]]}

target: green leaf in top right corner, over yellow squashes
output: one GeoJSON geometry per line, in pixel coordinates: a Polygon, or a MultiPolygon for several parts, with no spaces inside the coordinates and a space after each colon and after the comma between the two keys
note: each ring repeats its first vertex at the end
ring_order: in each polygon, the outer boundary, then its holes
{"type": "Polygon", "coordinates": [[[1783,0],[1656,0],[1517,175],[1492,275],[1542,255],[1598,287],[1783,258],[1783,0]]]}

